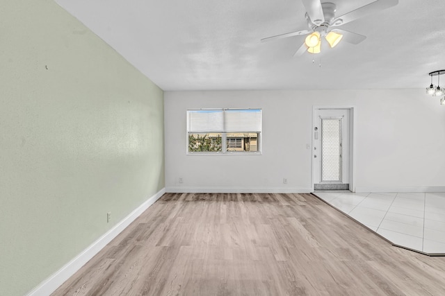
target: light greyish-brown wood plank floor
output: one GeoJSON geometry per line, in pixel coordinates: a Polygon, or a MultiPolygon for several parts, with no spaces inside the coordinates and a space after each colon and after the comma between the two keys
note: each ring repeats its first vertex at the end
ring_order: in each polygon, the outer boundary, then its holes
{"type": "Polygon", "coordinates": [[[310,194],[167,193],[54,295],[445,295],[445,257],[310,194]]]}

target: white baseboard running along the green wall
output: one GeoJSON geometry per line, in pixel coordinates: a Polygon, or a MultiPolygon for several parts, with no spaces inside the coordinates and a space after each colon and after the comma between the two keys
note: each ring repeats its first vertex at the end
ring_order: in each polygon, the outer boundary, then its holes
{"type": "Polygon", "coordinates": [[[161,198],[165,193],[165,188],[157,192],[152,197],[148,198],[143,204],[141,204],[137,209],[132,211],[127,217],[122,219],[118,224],[116,224],[112,229],[108,230],[106,234],[101,236],[97,241],[92,243],[83,252],[77,255],[74,259],[68,262],[63,268],[60,268],[54,275],[51,275],[48,279],[42,281],[42,283],[35,287],[28,296],[47,296],[53,293],[60,285],[62,285],[67,279],[69,279],[74,273],[79,270],[85,263],[92,259],[95,254],[102,250],[108,243],[110,243],[113,238],[118,236],[125,228],[130,225],[140,214],[148,209],[156,200],[161,198]]]}

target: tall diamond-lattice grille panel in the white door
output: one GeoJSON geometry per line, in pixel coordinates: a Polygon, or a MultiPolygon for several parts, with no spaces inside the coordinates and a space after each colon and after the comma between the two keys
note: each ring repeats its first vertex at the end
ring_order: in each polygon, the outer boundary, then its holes
{"type": "Polygon", "coordinates": [[[321,182],[341,182],[342,120],[321,119],[321,182]]]}

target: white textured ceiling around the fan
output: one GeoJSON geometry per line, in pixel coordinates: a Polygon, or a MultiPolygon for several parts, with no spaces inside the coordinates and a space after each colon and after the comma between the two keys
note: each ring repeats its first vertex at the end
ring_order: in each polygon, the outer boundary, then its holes
{"type": "MultiPolygon", "coordinates": [[[[364,42],[300,57],[304,36],[260,40],[307,29],[301,0],[56,2],[167,91],[423,88],[445,69],[444,0],[400,0],[341,26],[364,42]]],[[[332,2],[339,16],[373,0],[332,2]]]]}

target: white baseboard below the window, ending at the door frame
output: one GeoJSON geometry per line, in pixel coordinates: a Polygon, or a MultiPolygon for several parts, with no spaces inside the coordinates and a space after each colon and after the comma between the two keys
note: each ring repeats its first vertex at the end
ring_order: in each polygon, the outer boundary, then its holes
{"type": "Polygon", "coordinates": [[[168,193],[311,193],[312,188],[166,187],[168,193]]]}

